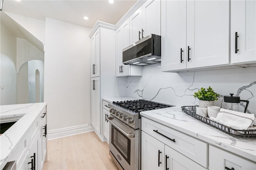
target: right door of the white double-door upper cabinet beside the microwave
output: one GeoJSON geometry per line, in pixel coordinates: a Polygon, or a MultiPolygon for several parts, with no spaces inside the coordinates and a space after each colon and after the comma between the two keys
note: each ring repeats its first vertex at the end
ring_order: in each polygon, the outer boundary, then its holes
{"type": "Polygon", "coordinates": [[[229,63],[229,1],[187,1],[187,68],[229,63]]]}

